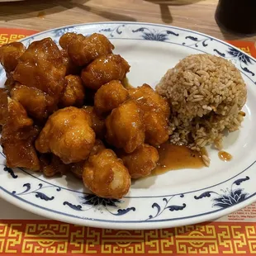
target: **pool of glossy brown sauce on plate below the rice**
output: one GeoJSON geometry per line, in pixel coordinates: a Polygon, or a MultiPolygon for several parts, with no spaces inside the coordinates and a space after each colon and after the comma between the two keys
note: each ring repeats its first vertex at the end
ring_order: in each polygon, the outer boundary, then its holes
{"type": "Polygon", "coordinates": [[[159,163],[151,175],[159,175],[170,170],[202,168],[205,165],[198,152],[184,145],[171,145],[168,142],[159,146],[159,163]]]}

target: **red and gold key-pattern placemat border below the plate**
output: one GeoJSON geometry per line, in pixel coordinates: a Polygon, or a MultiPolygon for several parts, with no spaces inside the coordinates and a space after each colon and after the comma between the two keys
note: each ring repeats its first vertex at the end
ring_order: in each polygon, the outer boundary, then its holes
{"type": "Polygon", "coordinates": [[[168,230],[100,230],[54,220],[3,220],[1,255],[256,254],[256,224],[212,222],[168,230]]]}

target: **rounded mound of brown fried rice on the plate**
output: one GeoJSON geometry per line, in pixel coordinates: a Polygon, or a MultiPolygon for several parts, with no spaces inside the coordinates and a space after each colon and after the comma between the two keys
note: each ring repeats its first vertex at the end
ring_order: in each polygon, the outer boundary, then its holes
{"type": "MultiPolygon", "coordinates": [[[[169,99],[170,141],[200,151],[222,148],[223,131],[238,130],[247,90],[241,73],[215,55],[189,55],[168,69],[156,91],[169,99]]],[[[210,159],[203,155],[206,165],[210,159]]]]}

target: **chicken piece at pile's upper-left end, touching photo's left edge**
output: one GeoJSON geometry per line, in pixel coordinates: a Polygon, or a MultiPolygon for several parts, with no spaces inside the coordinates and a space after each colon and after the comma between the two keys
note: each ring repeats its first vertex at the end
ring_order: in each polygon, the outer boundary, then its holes
{"type": "Polygon", "coordinates": [[[0,47],[0,64],[7,73],[16,69],[18,60],[25,50],[25,46],[20,42],[13,42],[0,47]]]}

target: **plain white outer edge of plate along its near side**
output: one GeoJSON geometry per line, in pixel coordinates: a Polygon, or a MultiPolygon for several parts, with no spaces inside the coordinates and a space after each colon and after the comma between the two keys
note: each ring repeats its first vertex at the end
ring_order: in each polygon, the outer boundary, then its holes
{"type": "MultiPolygon", "coordinates": [[[[2,189],[1,186],[0,188],[2,189]]],[[[6,191],[6,190],[3,188],[2,191],[6,191]]],[[[247,199],[245,199],[244,201],[241,201],[234,206],[225,208],[225,210],[219,209],[216,211],[211,211],[211,213],[208,213],[208,214],[203,213],[197,216],[182,217],[179,219],[179,220],[183,220],[182,222],[179,222],[178,220],[174,220],[174,219],[173,220],[153,220],[153,221],[150,220],[148,222],[145,222],[144,220],[141,220],[140,222],[139,221],[128,222],[126,220],[124,222],[121,222],[121,221],[115,221],[115,220],[95,220],[92,218],[83,218],[79,216],[73,216],[73,215],[65,214],[60,211],[50,210],[43,206],[34,205],[33,203],[26,201],[23,198],[13,197],[13,195],[11,195],[7,191],[6,191],[6,195],[7,197],[2,197],[3,200],[10,202],[12,205],[17,206],[25,211],[30,211],[38,216],[46,217],[50,220],[59,220],[59,221],[67,222],[74,225],[83,225],[88,227],[112,229],[112,230],[154,230],[154,229],[173,228],[173,227],[178,227],[183,225],[194,225],[197,223],[217,220],[223,216],[223,214],[221,214],[221,211],[225,211],[226,212],[225,215],[229,215],[230,213],[234,211],[238,211],[239,209],[244,208],[245,206],[249,206],[252,202],[256,200],[256,198],[255,200],[249,200],[255,197],[256,195],[256,192],[255,192],[254,194],[247,197],[247,199]],[[17,205],[17,200],[21,204],[17,205]],[[30,209],[27,209],[26,207],[27,204],[33,207],[31,207],[30,209]],[[59,217],[52,216],[53,213],[59,217]],[[209,218],[208,216],[211,216],[211,218],[209,218]],[[199,221],[198,221],[198,217],[201,217],[199,221]],[[148,225],[148,223],[150,223],[150,225],[148,225]],[[168,225],[166,225],[166,223],[168,223],[168,225]]]]}

